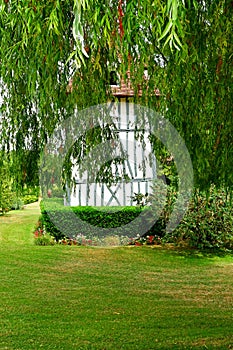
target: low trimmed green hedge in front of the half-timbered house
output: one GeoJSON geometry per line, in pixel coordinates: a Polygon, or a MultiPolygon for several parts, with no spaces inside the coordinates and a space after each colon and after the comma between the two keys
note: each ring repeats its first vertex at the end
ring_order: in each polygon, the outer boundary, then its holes
{"type": "Polygon", "coordinates": [[[56,240],[65,236],[72,238],[80,234],[90,238],[107,236],[110,233],[136,237],[137,234],[144,232],[146,227],[152,226],[148,232],[145,232],[146,234],[155,234],[157,230],[151,224],[153,214],[150,208],[108,207],[108,212],[103,209],[85,206],[63,207],[61,203],[52,199],[42,201],[41,223],[46,232],[56,240]],[[76,217],[80,220],[77,221],[76,217]]]}

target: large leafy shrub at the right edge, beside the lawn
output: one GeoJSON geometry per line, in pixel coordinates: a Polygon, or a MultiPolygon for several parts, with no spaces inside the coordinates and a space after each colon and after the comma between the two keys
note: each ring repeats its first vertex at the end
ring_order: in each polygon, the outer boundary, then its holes
{"type": "Polygon", "coordinates": [[[208,194],[196,191],[173,236],[199,249],[233,249],[233,208],[229,195],[213,186],[208,194]]]}

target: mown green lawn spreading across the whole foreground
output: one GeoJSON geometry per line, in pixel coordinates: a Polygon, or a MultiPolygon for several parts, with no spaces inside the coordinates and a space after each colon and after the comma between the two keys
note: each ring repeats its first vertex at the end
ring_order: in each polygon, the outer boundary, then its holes
{"type": "Polygon", "coordinates": [[[233,257],[38,247],[38,206],[0,217],[0,349],[232,349],[233,257]]]}

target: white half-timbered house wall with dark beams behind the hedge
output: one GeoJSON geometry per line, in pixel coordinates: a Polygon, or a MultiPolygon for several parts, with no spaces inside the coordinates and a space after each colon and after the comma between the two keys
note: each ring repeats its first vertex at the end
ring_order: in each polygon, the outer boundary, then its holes
{"type": "MultiPolygon", "coordinates": [[[[87,184],[86,174],[76,178],[76,187],[68,191],[68,201],[71,206],[128,206],[135,205],[135,193],[150,193],[153,180],[156,178],[156,159],[148,141],[149,133],[144,134],[146,147],[136,140],[136,113],[134,103],[129,99],[120,98],[119,103],[112,104],[111,116],[117,126],[120,143],[128,155],[123,162],[124,172],[129,179],[114,186],[105,183],[87,184]]],[[[110,104],[111,106],[111,104],[110,104]]],[[[112,167],[116,172],[117,168],[112,167]]]]}

